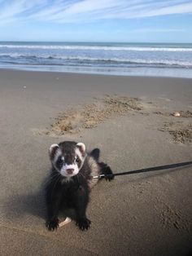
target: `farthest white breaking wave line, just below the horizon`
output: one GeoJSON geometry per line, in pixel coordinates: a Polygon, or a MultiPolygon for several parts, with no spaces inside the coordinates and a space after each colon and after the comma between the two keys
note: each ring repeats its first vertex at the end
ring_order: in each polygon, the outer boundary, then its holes
{"type": "Polygon", "coordinates": [[[45,49],[45,50],[78,50],[78,51],[192,51],[191,47],[160,47],[160,46],[54,46],[54,45],[9,45],[0,48],[11,49],[45,49]]]}

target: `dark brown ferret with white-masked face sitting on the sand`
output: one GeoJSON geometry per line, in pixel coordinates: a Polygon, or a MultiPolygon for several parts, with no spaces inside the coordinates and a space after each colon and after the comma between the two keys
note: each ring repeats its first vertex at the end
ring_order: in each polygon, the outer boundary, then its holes
{"type": "Polygon", "coordinates": [[[49,149],[52,171],[46,183],[46,227],[54,231],[59,227],[60,210],[72,208],[76,213],[76,225],[87,230],[90,220],[86,217],[90,189],[98,183],[92,179],[99,174],[107,174],[114,179],[111,168],[99,162],[99,149],[85,151],[84,143],[64,141],[52,144],[49,149]]]}

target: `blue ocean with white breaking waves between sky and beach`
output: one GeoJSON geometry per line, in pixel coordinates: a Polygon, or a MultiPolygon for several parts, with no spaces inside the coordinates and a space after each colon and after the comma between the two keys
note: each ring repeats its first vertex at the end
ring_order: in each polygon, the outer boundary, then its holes
{"type": "Polygon", "coordinates": [[[192,77],[192,43],[0,42],[0,68],[192,77]]]}

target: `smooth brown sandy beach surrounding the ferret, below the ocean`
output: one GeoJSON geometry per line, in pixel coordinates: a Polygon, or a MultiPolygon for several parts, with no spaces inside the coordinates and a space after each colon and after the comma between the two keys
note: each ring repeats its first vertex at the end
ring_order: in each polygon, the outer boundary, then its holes
{"type": "Polygon", "coordinates": [[[0,124],[0,255],[192,253],[192,166],[101,180],[86,232],[48,232],[43,197],[63,140],[100,148],[114,173],[192,161],[192,79],[2,69],[0,124]]]}

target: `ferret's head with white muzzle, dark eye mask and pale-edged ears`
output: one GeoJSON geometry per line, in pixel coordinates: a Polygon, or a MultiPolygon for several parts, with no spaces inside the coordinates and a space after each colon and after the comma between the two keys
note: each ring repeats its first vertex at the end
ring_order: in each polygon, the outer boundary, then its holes
{"type": "Polygon", "coordinates": [[[50,161],[63,177],[70,178],[79,173],[85,161],[85,144],[64,141],[52,144],[49,150],[50,161]]]}

